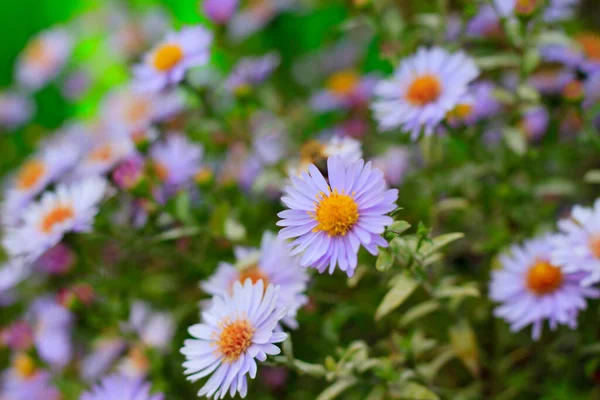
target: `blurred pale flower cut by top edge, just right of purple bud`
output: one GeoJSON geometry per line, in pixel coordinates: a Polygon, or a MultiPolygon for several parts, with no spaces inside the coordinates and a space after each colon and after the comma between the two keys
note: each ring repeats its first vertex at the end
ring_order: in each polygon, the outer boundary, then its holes
{"type": "Polygon", "coordinates": [[[253,1],[229,21],[229,36],[241,41],[266,26],[279,13],[295,6],[297,0],[253,1]]]}

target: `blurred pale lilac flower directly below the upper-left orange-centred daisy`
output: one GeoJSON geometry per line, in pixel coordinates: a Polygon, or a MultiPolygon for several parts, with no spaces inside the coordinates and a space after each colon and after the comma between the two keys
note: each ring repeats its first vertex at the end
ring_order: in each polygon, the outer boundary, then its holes
{"type": "Polygon", "coordinates": [[[118,136],[120,132],[131,137],[147,130],[151,124],[173,116],[183,106],[184,99],[176,91],[139,93],[126,87],[106,97],[102,120],[112,136],[118,136]]]}

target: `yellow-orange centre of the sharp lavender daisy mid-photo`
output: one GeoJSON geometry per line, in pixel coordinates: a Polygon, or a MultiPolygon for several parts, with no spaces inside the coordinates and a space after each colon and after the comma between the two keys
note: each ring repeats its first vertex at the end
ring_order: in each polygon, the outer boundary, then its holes
{"type": "Polygon", "coordinates": [[[324,231],[330,236],[344,236],[358,221],[358,204],[352,196],[337,189],[329,194],[320,193],[315,211],[309,213],[319,225],[315,232],[324,231]]]}

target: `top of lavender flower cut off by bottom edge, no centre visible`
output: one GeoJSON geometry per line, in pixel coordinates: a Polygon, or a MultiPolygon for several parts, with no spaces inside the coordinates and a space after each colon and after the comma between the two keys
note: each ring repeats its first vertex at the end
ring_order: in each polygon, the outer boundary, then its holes
{"type": "Polygon", "coordinates": [[[139,378],[110,375],[92,390],[81,395],[81,400],[163,400],[162,393],[152,394],[151,385],[139,378]]]}

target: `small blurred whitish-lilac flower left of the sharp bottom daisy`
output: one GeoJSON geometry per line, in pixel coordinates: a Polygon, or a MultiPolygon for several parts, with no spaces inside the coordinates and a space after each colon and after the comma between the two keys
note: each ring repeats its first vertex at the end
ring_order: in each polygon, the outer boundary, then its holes
{"type": "Polygon", "coordinates": [[[136,332],[146,346],[163,350],[173,338],[175,321],[171,314],[156,312],[148,303],[135,301],[125,328],[136,332]]]}

